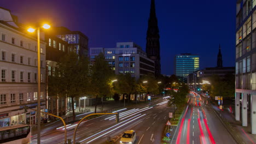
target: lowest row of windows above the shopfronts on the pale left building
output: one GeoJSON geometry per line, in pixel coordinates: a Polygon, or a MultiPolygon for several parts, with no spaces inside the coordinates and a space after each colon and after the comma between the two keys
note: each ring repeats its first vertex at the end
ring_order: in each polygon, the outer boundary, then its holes
{"type": "MultiPolygon", "coordinates": [[[[40,92],[40,99],[43,99],[43,92],[40,92]]],[[[0,94],[0,105],[8,104],[8,103],[17,103],[25,100],[37,100],[37,92],[30,92],[26,95],[24,93],[11,93],[11,94],[0,94]]]]}

